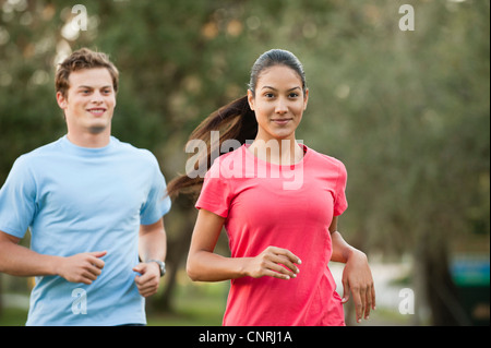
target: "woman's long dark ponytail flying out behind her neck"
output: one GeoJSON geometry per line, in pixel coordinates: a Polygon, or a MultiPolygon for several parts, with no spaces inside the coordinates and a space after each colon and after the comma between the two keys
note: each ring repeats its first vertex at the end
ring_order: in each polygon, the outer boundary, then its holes
{"type": "MultiPolygon", "coordinates": [[[[247,140],[254,140],[258,133],[258,121],[255,113],[251,110],[248,96],[233,100],[232,103],[219,108],[209,115],[197,128],[191,133],[188,143],[193,140],[201,140],[206,143],[206,153],[199,154],[193,164],[194,168],[202,168],[206,163],[206,170],[212,166],[212,154],[218,153],[221,143],[227,140],[236,140],[240,144],[244,144],[247,140]],[[212,131],[219,132],[218,144],[212,144],[212,131]],[[217,148],[212,148],[218,146],[217,148]]],[[[190,155],[189,157],[195,155],[190,155]]],[[[167,185],[167,194],[170,197],[177,197],[180,192],[197,194],[203,185],[204,173],[195,178],[188,175],[181,175],[171,180],[167,185]]]]}

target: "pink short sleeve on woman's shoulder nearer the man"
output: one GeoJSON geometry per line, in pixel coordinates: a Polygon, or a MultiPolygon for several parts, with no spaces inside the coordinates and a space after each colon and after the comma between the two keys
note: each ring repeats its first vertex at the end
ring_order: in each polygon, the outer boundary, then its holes
{"type": "Polygon", "coordinates": [[[231,200],[230,182],[220,175],[219,161],[216,160],[206,172],[203,188],[195,207],[206,209],[221,217],[227,217],[231,200]]]}

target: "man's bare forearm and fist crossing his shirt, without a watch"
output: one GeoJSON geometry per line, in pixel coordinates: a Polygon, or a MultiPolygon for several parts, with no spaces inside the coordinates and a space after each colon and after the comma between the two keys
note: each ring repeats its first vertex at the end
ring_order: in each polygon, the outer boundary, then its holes
{"type": "Polygon", "coordinates": [[[59,275],[72,283],[92,284],[101,273],[106,252],[82,253],[69,257],[43,255],[19,245],[20,239],[0,231],[0,272],[32,277],[59,275]]]}

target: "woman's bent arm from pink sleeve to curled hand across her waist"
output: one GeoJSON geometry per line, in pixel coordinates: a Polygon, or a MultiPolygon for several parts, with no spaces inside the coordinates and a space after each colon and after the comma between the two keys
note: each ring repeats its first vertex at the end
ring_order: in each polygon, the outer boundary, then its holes
{"type": "Polygon", "coordinates": [[[220,281],[244,276],[295,278],[300,260],[286,249],[268,247],[255,257],[225,257],[214,253],[225,218],[200,209],[188,254],[187,271],[192,280],[220,281]],[[285,265],[286,267],[282,266],[285,265]]]}

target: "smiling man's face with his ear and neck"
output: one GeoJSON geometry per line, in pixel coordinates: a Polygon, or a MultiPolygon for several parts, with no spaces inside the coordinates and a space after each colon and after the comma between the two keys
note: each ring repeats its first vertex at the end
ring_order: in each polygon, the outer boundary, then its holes
{"type": "Polygon", "coordinates": [[[69,133],[110,134],[116,93],[109,71],[106,68],[74,71],[69,76],[69,85],[67,97],[57,93],[69,133]]]}

